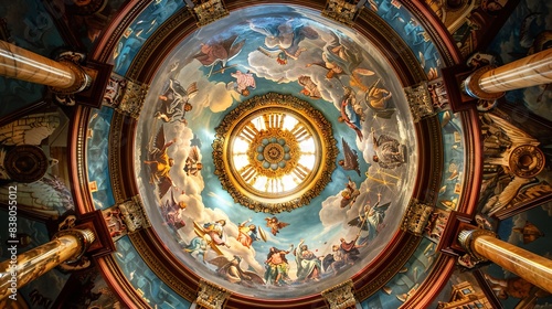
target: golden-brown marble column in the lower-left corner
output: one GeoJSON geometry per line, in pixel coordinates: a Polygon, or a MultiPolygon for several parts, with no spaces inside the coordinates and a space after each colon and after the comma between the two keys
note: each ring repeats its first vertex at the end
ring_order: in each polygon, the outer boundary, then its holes
{"type": "Polygon", "coordinates": [[[17,242],[8,239],[11,258],[0,263],[0,300],[62,263],[78,260],[94,242],[91,230],[65,230],[50,243],[18,255],[17,242]]]}

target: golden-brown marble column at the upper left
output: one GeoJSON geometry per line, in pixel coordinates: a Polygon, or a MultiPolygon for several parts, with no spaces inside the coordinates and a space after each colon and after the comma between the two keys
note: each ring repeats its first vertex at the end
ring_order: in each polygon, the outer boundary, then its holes
{"type": "Polygon", "coordinates": [[[0,40],[0,76],[52,87],[64,94],[78,93],[91,77],[68,60],[53,61],[0,40]]]}

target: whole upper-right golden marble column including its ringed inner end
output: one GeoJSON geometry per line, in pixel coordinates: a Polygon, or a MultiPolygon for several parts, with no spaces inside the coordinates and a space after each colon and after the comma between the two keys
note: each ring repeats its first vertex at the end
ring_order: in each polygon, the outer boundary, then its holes
{"type": "Polygon", "coordinates": [[[491,100],[505,92],[552,83],[552,49],[499,67],[485,66],[474,72],[463,88],[475,98],[491,100]]]}

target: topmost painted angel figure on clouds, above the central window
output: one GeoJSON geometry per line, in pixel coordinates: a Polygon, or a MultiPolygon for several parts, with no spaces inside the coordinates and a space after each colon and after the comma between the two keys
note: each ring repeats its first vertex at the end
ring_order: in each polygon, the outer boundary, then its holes
{"type": "Polygon", "coordinates": [[[259,46],[257,51],[264,55],[276,58],[280,65],[288,63],[289,58],[297,60],[299,55],[307,51],[299,47],[299,43],[305,39],[318,39],[318,32],[310,25],[294,25],[291,20],[287,20],[277,26],[258,26],[250,21],[251,30],[265,35],[265,47],[259,46]]]}

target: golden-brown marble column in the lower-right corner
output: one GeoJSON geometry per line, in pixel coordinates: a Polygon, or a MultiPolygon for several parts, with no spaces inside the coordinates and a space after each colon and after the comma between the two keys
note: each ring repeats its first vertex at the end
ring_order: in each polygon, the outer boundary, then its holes
{"type": "Polygon", "coordinates": [[[486,230],[461,231],[458,241],[476,259],[488,259],[527,281],[552,292],[552,259],[500,241],[486,230]]]}

